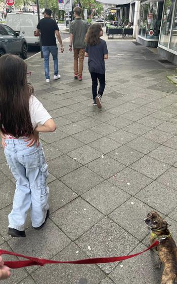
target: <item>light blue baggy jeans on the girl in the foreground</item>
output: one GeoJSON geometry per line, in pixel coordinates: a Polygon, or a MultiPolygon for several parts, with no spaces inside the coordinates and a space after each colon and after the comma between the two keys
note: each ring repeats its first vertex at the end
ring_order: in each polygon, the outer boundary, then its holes
{"type": "Polygon", "coordinates": [[[39,227],[49,209],[47,187],[48,165],[41,144],[27,147],[24,139],[6,139],[5,155],[13,176],[16,190],[9,227],[24,230],[27,212],[33,227],[39,227]]]}

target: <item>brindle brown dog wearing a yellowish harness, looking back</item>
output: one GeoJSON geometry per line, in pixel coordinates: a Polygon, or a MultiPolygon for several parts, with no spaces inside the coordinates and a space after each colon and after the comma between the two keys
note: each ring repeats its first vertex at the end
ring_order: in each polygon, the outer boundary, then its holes
{"type": "Polygon", "coordinates": [[[159,245],[159,264],[164,265],[161,284],[173,284],[177,278],[177,247],[168,230],[168,224],[155,211],[148,213],[144,220],[151,230],[150,242],[154,243],[157,239],[159,245]]]}

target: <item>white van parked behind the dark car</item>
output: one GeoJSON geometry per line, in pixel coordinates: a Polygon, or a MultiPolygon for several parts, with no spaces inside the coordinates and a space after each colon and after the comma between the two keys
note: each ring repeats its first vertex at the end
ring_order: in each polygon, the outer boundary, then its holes
{"type": "MultiPolygon", "coordinates": [[[[40,19],[43,15],[40,14],[40,19]]],[[[6,24],[13,30],[20,31],[20,35],[23,35],[28,45],[39,45],[39,37],[35,37],[34,31],[38,24],[37,14],[33,13],[8,13],[6,18],[6,24]]]]}

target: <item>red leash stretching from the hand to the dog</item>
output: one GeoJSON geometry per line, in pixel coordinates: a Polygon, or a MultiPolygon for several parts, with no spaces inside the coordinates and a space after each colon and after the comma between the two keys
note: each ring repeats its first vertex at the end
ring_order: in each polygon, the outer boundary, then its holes
{"type": "Polygon", "coordinates": [[[129,259],[132,257],[139,256],[147,251],[149,251],[151,248],[157,246],[159,244],[159,241],[156,240],[153,244],[151,244],[146,250],[143,252],[129,255],[129,256],[123,256],[123,257],[104,257],[104,258],[89,258],[89,259],[82,259],[82,260],[73,260],[73,261],[55,261],[55,260],[49,260],[49,259],[42,259],[42,258],[34,258],[34,257],[28,257],[23,256],[20,254],[0,250],[0,255],[11,255],[11,256],[17,256],[17,257],[23,257],[27,260],[18,260],[18,261],[5,261],[4,265],[7,265],[10,268],[21,268],[31,265],[45,265],[45,264],[51,264],[51,263],[70,263],[70,264],[96,264],[96,263],[108,263],[108,262],[116,262],[116,261],[122,261],[125,259],[129,259]]]}

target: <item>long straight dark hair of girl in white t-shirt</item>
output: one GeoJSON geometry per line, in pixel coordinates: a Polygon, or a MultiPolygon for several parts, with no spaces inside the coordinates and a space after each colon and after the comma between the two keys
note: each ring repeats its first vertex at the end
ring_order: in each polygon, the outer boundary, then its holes
{"type": "Polygon", "coordinates": [[[33,133],[29,114],[27,65],[16,55],[0,57],[0,129],[16,138],[33,133]]]}

